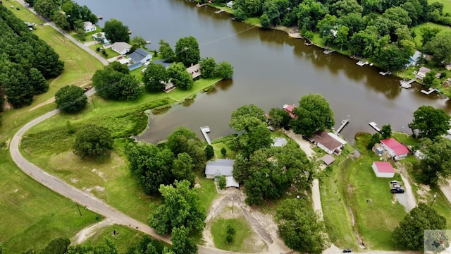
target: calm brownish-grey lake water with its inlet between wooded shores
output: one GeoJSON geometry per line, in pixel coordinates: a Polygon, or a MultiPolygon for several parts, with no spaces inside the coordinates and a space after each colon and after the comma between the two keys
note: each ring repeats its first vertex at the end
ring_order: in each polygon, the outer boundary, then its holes
{"type": "Polygon", "coordinates": [[[199,136],[200,126],[210,126],[210,137],[218,138],[232,133],[228,123],[237,107],[256,104],[268,111],[297,104],[309,93],[326,97],[335,112],[336,128],[342,119],[351,120],[342,131],[347,140],[359,131],[373,133],[371,121],[410,133],[407,124],[423,104],[451,111],[448,99],[423,95],[421,87],[404,90],[397,78],[379,75],[377,68],[357,66],[355,60],[338,54],[326,56],[319,48],[304,46],[304,40],[232,21],[227,13],[214,13],[214,8],[197,8],[182,0],[76,1],[103,16],[101,26],[110,18],[121,20],[132,36],[152,41],[149,49],[158,49],[159,40],[174,47],[180,37],[194,36],[202,57],[228,61],[234,67],[233,80],[221,81],[194,102],[151,116],[141,140],[164,140],[178,126],[189,127],[199,136]]]}

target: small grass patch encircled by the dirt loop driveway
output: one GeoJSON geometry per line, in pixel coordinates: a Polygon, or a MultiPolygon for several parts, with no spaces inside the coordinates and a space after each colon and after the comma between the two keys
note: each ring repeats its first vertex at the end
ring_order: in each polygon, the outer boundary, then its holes
{"type": "Polygon", "coordinates": [[[254,249],[257,246],[254,246],[254,243],[250,240],[252,240],[252,234],[255,233],[252,232],[249,222],[247,222],[243,215],[240,215],[240,217],[235,219],[218,218],[212,223],[211,234],[213,235],[213,241],[216,248],[244,253],[254,252],[254,249]],[[226,242],[227,225],[229,224],[235,229],[233,241],[230,244],[226,242]]]}

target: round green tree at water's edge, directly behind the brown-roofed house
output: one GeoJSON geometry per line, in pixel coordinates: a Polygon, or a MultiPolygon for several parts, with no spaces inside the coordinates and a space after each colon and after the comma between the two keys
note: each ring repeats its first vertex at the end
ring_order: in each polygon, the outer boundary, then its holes
{"type": "Polygon", "coordinates": [[[311,137],[317,131],[331,128],[335,121],[329,103],[319,94],[304,95],[299,100],[299,107],[293,110],[296,118],[290,121],[293,131],[311,137]]]}

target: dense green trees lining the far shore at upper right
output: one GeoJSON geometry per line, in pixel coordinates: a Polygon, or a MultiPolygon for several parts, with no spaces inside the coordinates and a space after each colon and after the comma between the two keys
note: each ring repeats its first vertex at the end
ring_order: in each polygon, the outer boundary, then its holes
{"type": "MultiPolygon", "coordinates": [[[[235,0],[233,13],[238,20],[260,18],[263,28],[295,26],[309,39],[319,32],[327,45],[364,56],[387,70],[404,67],[414,54],[410,28],[426,22],[451,25],[443,4],[427,0],[235,0]]],[[[451,42],[445,39],[450,34],[439,35],[422,49],[433,55],[433,63],[443,65],[451,61],[451,42]]]]}

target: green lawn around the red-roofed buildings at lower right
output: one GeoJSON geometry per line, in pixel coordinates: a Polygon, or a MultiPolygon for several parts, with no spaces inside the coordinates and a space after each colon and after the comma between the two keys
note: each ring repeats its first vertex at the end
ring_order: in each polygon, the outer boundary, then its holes
{"type": "MultiPolygon", "coordinates": [[[[393,135],[407,145],[419,144],[418,140],[404,133],[393,135]]],[[[366,149],[366,143],[370,139],[369,133],[358,133],[355,147],[361,156],[347,159],[340,156],[320,176],[321,200],[328,235],[341,248],[359,249],[357,243],[363,241],[366,248],[370,249],[404,250],[393,245],[392,231],[407,212],[390,193],[390,179],[378,179],[374,175],[371,164],[378,161],[379,157],[366,149]]],[[[409,155],[400,161],[407,165],[409,174],[412,174],[411,162],[415,160],[413,155],[409,155]]],[[[395,174],[395,180],[401,181],[398,173],[395,174]]],[[[451,205],[437,188],[428,189],[428,186],[414,181],[411,181],[411,185],[417,202],[429,205],[433,194],[439,193],[433,208],[446,218],[451,218],[451,205]],[[422,191],[423,188],[426,191],[422,191]]],[[[449,221],[447,229],[451,229],[449,221]]]]}

